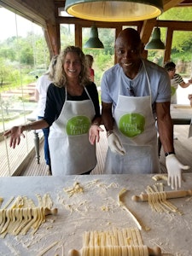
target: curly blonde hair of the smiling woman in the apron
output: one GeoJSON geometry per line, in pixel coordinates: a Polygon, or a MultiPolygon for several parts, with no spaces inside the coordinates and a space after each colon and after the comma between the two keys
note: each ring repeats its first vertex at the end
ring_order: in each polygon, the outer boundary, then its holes
{"type": "Polygon", "coordinates": [[[67,76],[64,71],[63,64],[66,60],[66,55],[69,52],[74,52],[77,55],[79,55],[79,61],[81,62],[81,72],[79,73],[79,84],[85,85],[90,83],[89,79],[89,69],[87,66],[87,62],[85,61],[85,56],[82,51],[77,46],[67,46],[66,49],[62,50],[60,55],[58,55],[57,61],[56,61],[56,66],[55,66],[55,76],[53,83],[57,87],[64,87],[67,84],[67,76]]]}

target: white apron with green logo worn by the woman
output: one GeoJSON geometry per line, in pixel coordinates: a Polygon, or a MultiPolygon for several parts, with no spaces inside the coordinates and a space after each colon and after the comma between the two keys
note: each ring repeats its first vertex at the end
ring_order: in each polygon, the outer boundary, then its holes
{"type": "MultiPolygon", "coordinates": [[[[84,88],[87,95],[90,95],[84,88]]],[[[49,151],[53,176],[76,175],[96,166],[96,146],[89,142],[91,120],[95,116],[93,102],[66,100],[60,116],[49,131],[49,151]]]]}

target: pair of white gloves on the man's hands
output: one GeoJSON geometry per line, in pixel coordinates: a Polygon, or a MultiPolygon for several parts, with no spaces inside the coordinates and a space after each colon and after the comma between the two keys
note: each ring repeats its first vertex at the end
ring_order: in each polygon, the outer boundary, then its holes
{"type": "MultiPolygon", "coordinates": [[[[108,147],[115,154],[125,155],[125,148],[119,141],[119,137],[114,133],[108,135],[108,147]]],[[[172,189],[181,188],[182,183],[182,170],[188,170],[189,166],[183,166],[182,163],[177,160],[175,154],[169,154],[166,156],[166,169],[168,173],[167,184],[172,186],[172,189]]]]}

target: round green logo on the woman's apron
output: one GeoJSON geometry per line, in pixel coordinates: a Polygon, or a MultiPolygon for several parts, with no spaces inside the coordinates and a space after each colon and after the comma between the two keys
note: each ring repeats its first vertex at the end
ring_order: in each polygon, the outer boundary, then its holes
{"type": "Polygon", "coordinates": [[[75,116],[67,121],[66,131],[67,135],[81,135],[85,134],[90,129],[90,119],[84,115],[75,116]]]}

